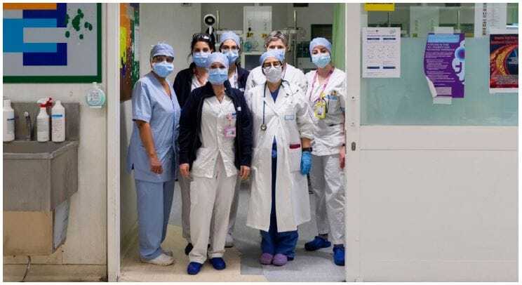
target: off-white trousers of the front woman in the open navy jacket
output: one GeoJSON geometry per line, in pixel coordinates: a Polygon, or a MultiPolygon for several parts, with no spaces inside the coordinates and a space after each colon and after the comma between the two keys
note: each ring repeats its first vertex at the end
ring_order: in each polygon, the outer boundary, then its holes
{"type": "Polygon", "coordinates": [[[237,175],[227,177],[223,159],[217,157],[215,177],[194,177],[190,183],[190,238],[194,248],[190,262],[205,263],[210,232],[208,258],[220,258],[225,253],[230,206],[234,197],[237,175]]]}

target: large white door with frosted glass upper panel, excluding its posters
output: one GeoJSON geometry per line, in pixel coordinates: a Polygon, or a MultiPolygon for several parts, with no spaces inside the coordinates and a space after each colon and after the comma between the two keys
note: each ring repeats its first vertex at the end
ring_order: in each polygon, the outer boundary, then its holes
{"type": "Polygon", "coordinates": [[[518,93],[488,93],[488,39],[469,36],[452,105],[431,100],[425,34],[401,38],[401,78],[361,79],[361,27],[386,15],[368,13],[347,4],[347,281],[515,281],[518,93]]]}

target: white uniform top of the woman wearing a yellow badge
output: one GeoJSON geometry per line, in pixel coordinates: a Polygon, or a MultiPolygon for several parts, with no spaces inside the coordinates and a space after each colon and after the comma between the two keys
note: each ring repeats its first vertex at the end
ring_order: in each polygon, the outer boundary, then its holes
{"type": "Polygon", "coordinates": [[[314,141],[312,142],[312,154],[332,155],[340,152],[344,143],[344,105],[346,98],[346,77],[342,70],[335,68],[330,74],[326,87],[325,81],[319,84],[314,77],[316,70],[306,74],[308,81],[307,100],[314,110],[314,103],[319,99],[324,88],[324,100],[326,101],[326,117],[318,119],[314,116],[314,141]],[[313,88],[312,88],[313,86],[313,88]]]}

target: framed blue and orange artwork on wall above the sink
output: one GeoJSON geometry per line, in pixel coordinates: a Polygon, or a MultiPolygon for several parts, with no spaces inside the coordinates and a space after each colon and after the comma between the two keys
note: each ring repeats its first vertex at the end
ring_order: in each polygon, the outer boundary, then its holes
{"type": "Polygon", "coordinates": [[[100,82],[101,4],[4,3],[4,83],[100,82]]]}

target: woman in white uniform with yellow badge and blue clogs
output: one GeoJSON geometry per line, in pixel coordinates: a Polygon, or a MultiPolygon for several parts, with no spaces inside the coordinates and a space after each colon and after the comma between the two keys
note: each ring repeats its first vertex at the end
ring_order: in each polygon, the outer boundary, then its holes
{"type": "Polygon", "coordinates": [[[307,99],[314,111],[314,148],[310,182],[316,196],[319,235],[304,244],[307,251],[327,248],[333,242],[333,261],[344,265],[344,98],[346,75],[333,66],[332,44],[324,38],[310,41],[316,70],[306,74],[307,99]]]}

